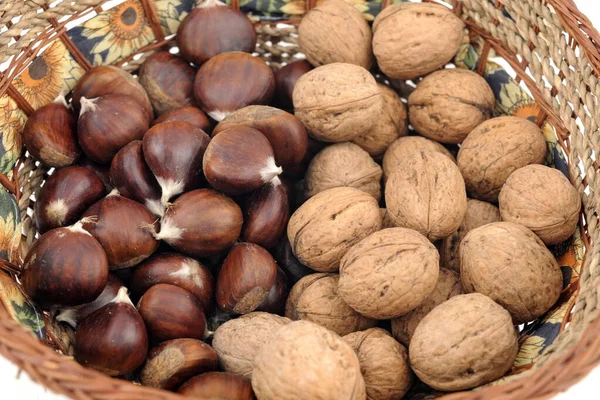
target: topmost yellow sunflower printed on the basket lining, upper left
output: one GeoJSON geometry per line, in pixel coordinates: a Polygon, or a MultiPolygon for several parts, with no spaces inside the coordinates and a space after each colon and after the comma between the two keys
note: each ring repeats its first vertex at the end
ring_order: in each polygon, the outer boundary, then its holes
{"type": "Polygon", "coordinates": [[[86,21],[83,27],[82,35],[86,38],[102,38],[92,48],[94,65],[114,63],[154,40],[144,7],[137,0],[101,12],[86,21]]]}

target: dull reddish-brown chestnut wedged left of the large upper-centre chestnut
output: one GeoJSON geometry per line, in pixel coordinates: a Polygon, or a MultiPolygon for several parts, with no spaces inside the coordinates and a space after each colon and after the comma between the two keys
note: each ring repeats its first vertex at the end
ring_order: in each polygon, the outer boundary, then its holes
{"type": "Polygon", "coordinates": [[[139,80],[146,89],[157,115],[194,103],[196,71],[183,59],[160,51],[148,57],[140,68],[139,80]]]}

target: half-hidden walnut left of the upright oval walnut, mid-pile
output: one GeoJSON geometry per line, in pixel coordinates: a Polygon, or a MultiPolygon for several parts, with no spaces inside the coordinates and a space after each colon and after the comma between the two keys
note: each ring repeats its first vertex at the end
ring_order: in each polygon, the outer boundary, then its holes
{"type": "Polygon", "coordinates": [[[306,194],[312,197],[334,187],[348,186],[381,199],[381,167],[353,143],[337,143],[321,150],[306,171],[306,194]]]}

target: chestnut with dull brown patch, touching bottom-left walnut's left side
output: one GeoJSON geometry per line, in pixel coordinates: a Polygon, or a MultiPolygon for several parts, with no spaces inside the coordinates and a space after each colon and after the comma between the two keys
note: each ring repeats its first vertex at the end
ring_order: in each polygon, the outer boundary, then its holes
{"type": "Polygon", "coordinates": [[[174,390],[190,377],[218,369],[217,352],[197,339],[173,339],[148,352],[140,372],[144,386],[174,390]],[[165,368],[165,366],[169,368],[165,368]]]}

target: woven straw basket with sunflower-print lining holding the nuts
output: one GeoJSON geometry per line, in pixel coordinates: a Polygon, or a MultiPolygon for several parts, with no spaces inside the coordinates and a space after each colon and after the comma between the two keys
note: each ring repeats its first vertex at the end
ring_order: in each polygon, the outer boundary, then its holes
{"type": "MultiPolygon", "coordinates": [[[[372,20],[389,0],[352,0],[372,20]]],[[[98,64],[135,72],[157,49],[171,48],[193,0],[3,0],[0,2],[0,354],[47,388],[74,399],[168,400],[182,397],[111,379],[68,354],[68,335],[20,292],[19,268],[36,238],[35,194],[48,171],[22,149],[32,111],[98,64]],[[114,1],[111,3],[115,3],[114,1]],[[33,332],[33,333],[32,333],[33,332]]],[[[553,249],[565,289],[548,315],[521,332],[509,376],[446,399],[545,399],[567,389],[600,362],[600,35],[572,0],[440,1],[468,29],[454,64],[482,74],[496,114],[535,121],[550,147],[548,163],[570,176],[583,201],[579,231],[553,249]],[[492,58],[502,58],[514,73],[492,58]],[[525,89],[525,87],[527,89],[525,89]]],[[[256,21],[256,52],[273,68],[293,60],[296,27],[315,0],[232,1],[256,21]],[[281,22],[286,22],[285,25],[281,22]]],[[[387,82],[404,95],[411,84],[387,82]]],[[[413,85],[414,86],[414,85],[413,85]]],[[[417,388],[418,389],[418,388],[417,388]]],[[[414,398],[427,393],[413,390],[414,398]]]]}

